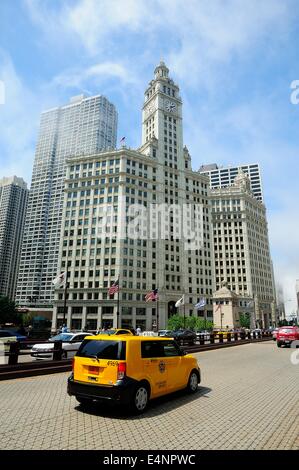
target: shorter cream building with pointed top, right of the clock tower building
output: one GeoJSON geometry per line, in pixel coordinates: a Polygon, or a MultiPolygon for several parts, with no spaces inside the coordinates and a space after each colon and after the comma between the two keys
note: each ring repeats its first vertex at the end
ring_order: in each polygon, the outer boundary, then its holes
{"type": "Polygon", "coordinates": [[[227,188],[211,190],[216,288],[227,283],[238,295],[254,298],[260,327],[277,323],[275,285],[266,208],[239,170],[227,188]]]}

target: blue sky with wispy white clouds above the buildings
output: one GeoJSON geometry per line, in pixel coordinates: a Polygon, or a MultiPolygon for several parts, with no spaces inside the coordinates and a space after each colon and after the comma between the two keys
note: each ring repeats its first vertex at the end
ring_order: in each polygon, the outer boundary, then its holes
{"type": "Polygon", "coordinates": [[[119,139],[137,148],[143,93],[163,59],[193,169],[260,164],[275,279],[292,312],[298,44],[297,0],[0,0],[0,177],[30,183],[40,113],[80,93],[114,103],[119,139]]]}

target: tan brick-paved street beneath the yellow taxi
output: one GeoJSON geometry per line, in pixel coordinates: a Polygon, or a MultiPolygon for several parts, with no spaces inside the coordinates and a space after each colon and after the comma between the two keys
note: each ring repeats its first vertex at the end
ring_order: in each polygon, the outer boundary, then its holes
{"type": "Polygon", "coordinates": [[[195,354],[202,383],[141,416],[66,394],[68,373],[0,382],[1,449],[299,449],[299,365],[272,341],[195,354]]]}

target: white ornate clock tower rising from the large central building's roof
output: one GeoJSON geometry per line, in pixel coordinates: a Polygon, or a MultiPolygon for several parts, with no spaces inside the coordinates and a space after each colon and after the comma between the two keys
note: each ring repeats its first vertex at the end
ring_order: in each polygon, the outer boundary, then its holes
{"type": "Polygon", "coordinates": [[[145,91],[142,110],[142,153],[173,169],[184,169],[182,100],[179,87],[164,64],[155,68],[155,78],[145,91]]]}

